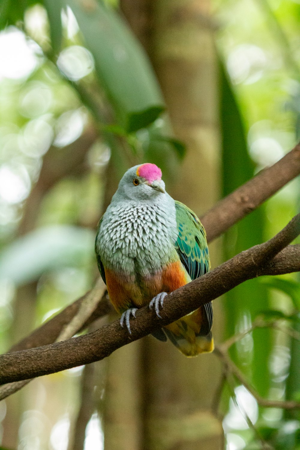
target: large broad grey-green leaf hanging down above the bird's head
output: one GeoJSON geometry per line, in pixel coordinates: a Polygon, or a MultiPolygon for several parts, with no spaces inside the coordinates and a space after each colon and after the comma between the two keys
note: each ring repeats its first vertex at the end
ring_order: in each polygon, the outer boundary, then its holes
{"type": "Polygon", "coordinates": [[[119,124],[133,132],[155,121],[165,105],[148,57],[130,29],[101,2],[64,0],[64,4],[75,14],[119,124]]]}

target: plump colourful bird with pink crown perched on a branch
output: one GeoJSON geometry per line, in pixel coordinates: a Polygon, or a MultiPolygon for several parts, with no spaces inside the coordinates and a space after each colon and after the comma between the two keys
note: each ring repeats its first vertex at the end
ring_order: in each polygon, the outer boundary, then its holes
{"type": "MultiPolygon", "coordinates": [[[[166,192],[152,163],[125,172],[99,220],[95,252],[100,274],[120,324],[149,305],[157,317],[166,295],[210,270],[206,232],[196,214],[166,192]]],[[[152,333],[185,356],[214,350],[212,303],[152,333]]]]}

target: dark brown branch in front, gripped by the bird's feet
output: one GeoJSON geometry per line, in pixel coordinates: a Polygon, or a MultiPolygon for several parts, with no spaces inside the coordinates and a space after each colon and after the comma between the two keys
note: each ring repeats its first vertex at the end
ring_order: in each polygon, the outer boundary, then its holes
{"type": "Polygon", "coordinates": [[[270,262],[270,256],[274,256],[274,252],[279,252],[299,234],[299,224],[300,214],[267,243],[238,254],[212,272],[170,293],[165,298],[161,320],[147,306],[141,308],[132,321],[131,335],[121,329],[117,320],[85,336],[0,356],[0,383],[33,378],[101,360],[117,348],[170,324],[243,281],[265,274],[270,264],[273,269],[275,266],[274,261],[270,262]]]}

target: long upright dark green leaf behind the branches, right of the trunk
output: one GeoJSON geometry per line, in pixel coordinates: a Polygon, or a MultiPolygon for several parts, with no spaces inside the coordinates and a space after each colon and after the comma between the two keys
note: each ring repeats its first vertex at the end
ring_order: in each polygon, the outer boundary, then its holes
{"type": "MultiPolygon", "coordinates": [[[[237,100],[221,60],[219,73],[223,195],[226,196],[253,176],[254,164],[248,154],[245,126],[237,100]]],[[[260,207],[225,234],[224,258],[229,259],[242,250],[263,242],[263,230],[264,210],[260,207]]],[[[237,329],[249,326],[259,311],[268,309],[268,303],[268,289],[257,279],[249,280],[227,293],[224,302],[227,335],[231,336],[237,329]]],[[[268,359],[271,334],[268,329],[255,329],[252,339],[253,346],[249,345],[248,350],[245,346],[234,346],[230,353],[260,394],[266,395],[270,379],[268,359]]]]}

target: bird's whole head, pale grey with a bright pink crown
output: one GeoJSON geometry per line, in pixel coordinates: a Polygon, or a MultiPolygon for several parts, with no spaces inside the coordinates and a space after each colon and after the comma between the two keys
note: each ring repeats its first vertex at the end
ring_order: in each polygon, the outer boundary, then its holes
{"type": "Polygon", "coordinates": [[[164,195],[165,183],[161,180],[161,169],[149,162],[131,167],[123,175],[117,197],[129,200],[150,200],[164,195]]]}

